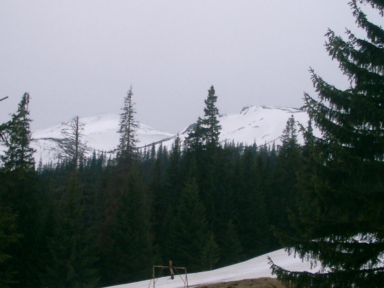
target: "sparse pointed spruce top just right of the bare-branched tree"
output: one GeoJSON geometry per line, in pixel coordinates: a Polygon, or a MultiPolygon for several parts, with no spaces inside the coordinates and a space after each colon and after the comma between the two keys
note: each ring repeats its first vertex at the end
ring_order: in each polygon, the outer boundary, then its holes
{"type": "Polygon", "coordinates": [[[136,109],[132,101],[132,85],[127,96],[124,98],[124,106],[121,108],[122,113],[120,114],[120,142],[117,149],[117,158],[120,163],[127,165],[133,158],[136,152],[136,131],[139,128],[139,123],[135,121],[134,115],[136,109]]]}

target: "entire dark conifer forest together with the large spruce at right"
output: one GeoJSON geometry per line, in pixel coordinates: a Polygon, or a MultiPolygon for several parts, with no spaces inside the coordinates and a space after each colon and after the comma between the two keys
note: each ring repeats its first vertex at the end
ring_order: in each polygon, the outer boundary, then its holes
{"type": "MultiPolygon", "coordinates": [[[[341,91],[312,71],[311,116],[282,144],[219,143],[212,86],[189,137],[136,147],[134,93],[120,115],[115,157],[86,156],[83,124],[63,127],[57,164],[35,163],[25,93],[1,124],[0,287],[104,287],[151,278],[152,265],[204,271],[288,247],[322,274],[284,270],[286,285],[381,287],[384,282],[384,31],[352,1],[361,40],[327,33],[326,49],[350,77],[341,91]],[[312,126],[323,133],[314,137],[312,126]]],[[[1,102],[0,102],[1,105],[1,102]]]]}

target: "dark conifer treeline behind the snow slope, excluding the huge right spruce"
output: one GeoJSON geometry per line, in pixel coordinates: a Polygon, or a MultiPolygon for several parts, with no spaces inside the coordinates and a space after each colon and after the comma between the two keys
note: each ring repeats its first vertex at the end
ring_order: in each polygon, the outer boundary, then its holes
{"type": "Polygon", "coordinates": [[[75,117],[63,128],[61,161],[36,170],[23,96],[3,129],[3,286],[104,287],[149,279],[168,260],[194,272],[280,248],[272,227],[290,229],[303,151],[293,116],[281,146],[219,144],[212,86],[185,143],[138,150],[132,96],[131,88],[116,158],[85,157],[75,117]]]}

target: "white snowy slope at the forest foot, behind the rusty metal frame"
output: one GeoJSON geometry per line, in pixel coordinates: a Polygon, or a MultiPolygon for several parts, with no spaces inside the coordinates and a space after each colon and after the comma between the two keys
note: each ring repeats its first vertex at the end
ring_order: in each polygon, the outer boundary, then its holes
{"type": "MultiPolygon", "coordinates": [[[[288,253],[286,253],[283,249],[280,249],[235,265],[219,268],[212,271],[188,274],[187,277],[189,287],[210,283],[237,281],[260,277],[275,277],[271,275],[270,265],[268,264],[267,256],[270,256],[272,261],[276,265],[281,266],[290,271],[310,271],[312,273],[315,273],[319,270],[319,267],[315,267],[311,270],[310,263],[302,262],[300,258],[295,258],[293,257],[293,255],[288,255],[288,253]]],[[[170,280],[169,278],[169,276],[159,278],[156,281],[155,288],[184,287],[184,276],[182,277],[183,279],[179,276],[175,277],[174,280],[170,280]]],[[[149,286],[150,283],[151,280],[145,280],[111,287],[151,288],[151,286],[149,286]]],[[[153,282],[151,284],[153,287],[153,282]]]]}

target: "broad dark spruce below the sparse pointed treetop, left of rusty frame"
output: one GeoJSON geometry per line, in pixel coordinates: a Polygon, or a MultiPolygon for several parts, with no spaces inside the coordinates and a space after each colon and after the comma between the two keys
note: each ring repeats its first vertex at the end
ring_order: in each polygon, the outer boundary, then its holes
{"type": "MultiPolygon", "coordinates": [[[[133,169],[133,168],[132,168],[133,169]]],[[[135,169],[114,184],[115,209],[108,220],[107,245],[102,251],[103,285],[146,279],[155,262],[149,203],[135,169]]],[[[113,178],[113,180],[116,178],[113,178]]]]}

